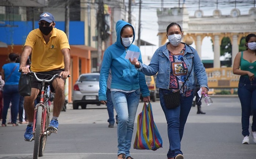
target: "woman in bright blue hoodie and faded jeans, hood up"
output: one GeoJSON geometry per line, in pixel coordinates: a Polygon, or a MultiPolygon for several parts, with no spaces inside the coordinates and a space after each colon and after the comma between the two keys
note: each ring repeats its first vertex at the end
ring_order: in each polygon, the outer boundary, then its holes
{"type": "MultiPolygon", "coordinates": [[[[134,28],[125,21],[116,23],[117,41],[108,47],[104,53],[99,79],[99,101],[106,104],[107,78],[111,69],[111,97],[118,116],[118,159],[133,159],[130,155],[134,120],[139,105],[140,92],[145,102],[150,101],[149,89],[145,75],[138,71],[128,59],[127,51],[140,52],[133,45],[135,40],[134,28]]],[[[141,54],[139,62],[142,63],[141,54]]]]}

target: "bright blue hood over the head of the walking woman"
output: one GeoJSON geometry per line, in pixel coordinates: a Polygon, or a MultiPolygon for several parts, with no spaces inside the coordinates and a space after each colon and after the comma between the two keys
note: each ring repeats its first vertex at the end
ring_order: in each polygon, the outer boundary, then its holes
{"type": "Polygon", "coordinates": [[[130,26],[132,27],[132,32],[133,32],[133,34],[134,34],[134,39],[133,39],[132,43],[133,43],[134,40],[135,40],[134,27],[133,27],[130,23],[128,23],[128,22],[119,20],[119,21],[117,21],[117,23],[116,23],[116,35],[117,35],[117,40],[116,40],[116,42],[115,42],[115,44],[118,45],[119,47],[124,47],[124,45],[122,45],[122,43],[121,43],[121,30],[122,30],[122,28],[123,28],[125,25],[130,25],[130,26]]]}

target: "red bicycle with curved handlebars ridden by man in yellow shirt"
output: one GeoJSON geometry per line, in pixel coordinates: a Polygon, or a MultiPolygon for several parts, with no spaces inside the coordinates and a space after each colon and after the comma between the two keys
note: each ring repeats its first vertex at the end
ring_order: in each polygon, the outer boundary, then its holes
{"type": "MultiPolygon", "coordinates": [[[[19,70],[21,72],[21,70],[19,70]]],[[[33,120],[33,140],[34,140],[34,151],[33,159],[43,156],[47,137],[52,133],[47,130],[50,124],[50,110],[48,106],[49,96],[47,95],[48,85],[55,79],[60,77],[59,74],[55,74],[51,79],[39,79],[37,73],[30,71],[30,74],[34,74],[37,81],[42,82],[40,101],[34,108],[34,120],[33,120]]],[[[70,77],[70,75],[68,76],[70,77]]]]}

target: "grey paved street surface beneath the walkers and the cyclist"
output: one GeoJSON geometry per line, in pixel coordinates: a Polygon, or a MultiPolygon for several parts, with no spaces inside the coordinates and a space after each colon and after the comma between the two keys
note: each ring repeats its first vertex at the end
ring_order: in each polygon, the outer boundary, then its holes
{"type": "MultiPolygon", "coordinates": [[[[256,144],[243,145],[241,107],[238,97],[212,97],[213,104],[196,114],[192,107],[182,139],[184,159],[255,159],[256,144]]],[[[137,114],[142,110],[139,104],[137,114]]],[[[157,151],[131,148],[135,159],[167,159],[169,147],[167,124],[160,102],[152,102],[154,121],[160,131],[163,148],[157,151]]],[[[73,110],[69,104],[59,117],[59,132],[47,139],[44,156],[40,159],[116,159],[117,127],[108,128],[106,106],[88,105],[86,110],[73,110]]],[[[8,115],[9,116],[9,115],[8,115]]],[[[137,121],[137,120],[136,120],[137,121]]],[[[135,123],[134,142],[137,122],[135,123]]],[[[250,122],[251,126],[251,122],[250,122]]],[[[23,138],[26,125],[0,127],[0,158],[33,158],[33,142],[23,138]]]]}

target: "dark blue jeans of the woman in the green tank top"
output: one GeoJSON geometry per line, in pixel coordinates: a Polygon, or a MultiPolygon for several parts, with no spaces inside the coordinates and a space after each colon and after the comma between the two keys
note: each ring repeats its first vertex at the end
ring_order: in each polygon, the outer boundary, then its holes
{"type": "Polygon", "coordinates": [[[249,136],[249,118],[252,105],[252,131],[256,132],[256,79],[250,82],[249,78],[241,76],[238,84],[238,97],[242,107],[242,135],[249,136]]]}

